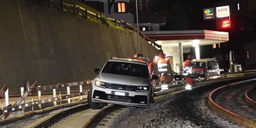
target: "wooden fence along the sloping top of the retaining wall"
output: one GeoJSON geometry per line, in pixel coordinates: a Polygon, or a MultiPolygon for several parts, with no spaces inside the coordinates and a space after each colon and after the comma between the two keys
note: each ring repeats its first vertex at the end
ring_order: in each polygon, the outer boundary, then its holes
{"type": "MultiPolygon", "coordinates": [[[[87,8],[82,8],[79,5],[71,5],[68,3],[63,2],[63,0],[26,0],[28,2],[33,2],[39,5],[43,5],[43,6],[47,6],[49,8],[56,8],[59,11],[65,12],[65,13],[69,13],[75,16],[80,16],[81,18],[85,18],[85,19],[93,19],[96,18],[96,20],[98,21],[99,19],[105,20],[105,18],[109,21],[111,21],[113,24],[115,24],[115,26],[118,26],[118,24],[121,24],[125,29],[129,29],[131,31],[136,32],[137,28],[135,26],[133,26],[130,23],[127,23],[126,21],[122,20],[122,19],[113,19],[113,18],[109,18],[107,16],[102,16],[99,15],[98,13],[93,13],[91,11],[89,11],[87,8]],[[90,17],[92,16],[92,17],[90,17]]],[[[106,21],[107,24],[107,21],[106,21]]],[[[149,39],[147,36],[145,36],[144,33],[142,33],[141,31],[139,31],[139,36],[141,36],[144,40],[151,42],[151,45],[153,45],[154,47],[158,47],[160,48],[160,50],[162,50],[162,45],[159,45],[156,43],[156,40],[152,40],[149,39]]]]}

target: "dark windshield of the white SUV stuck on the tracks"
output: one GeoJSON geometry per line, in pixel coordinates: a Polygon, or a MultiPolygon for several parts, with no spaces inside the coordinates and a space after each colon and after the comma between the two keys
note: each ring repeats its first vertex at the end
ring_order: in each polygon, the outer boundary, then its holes
{"type": "Polygon", "coordinates": [[[136,63],[127,62],[107,62],[104,66],[102,73],[110,73],[117,75],[149,77],[147,65],[139,65],[136,63]]]}

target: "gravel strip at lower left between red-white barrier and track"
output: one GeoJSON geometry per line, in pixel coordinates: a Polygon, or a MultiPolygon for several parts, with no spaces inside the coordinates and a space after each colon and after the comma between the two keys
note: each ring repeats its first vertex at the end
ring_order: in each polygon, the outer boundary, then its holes
{"type": "MultiPolygon", "coordinates": [[[[81,105],[81,104],[79,104],[79,105],[81,105]]],[[[72,107],[75,107],[75,106],[78,106],[78,105],[74,105],[72,107]]],[[[71,107],[65,107],[62,110],[66,110],[66,109],[69,109],[69,108],[71,108],[71,107]]],[[[50,115],[53,115],[53,114],[55,114],[57,112],[60,112],[60,111],[61,111],[61,109],[57,109],[57,110],[53,110],[53,111],[43,113],[43,114],[32,115],[32,116],[23,118],[21,120],[18,120],[16,122],[12,122],[12,123],[9,123],[9,124],[6,124],[6,125],[0,125],[0,128],[27,128],[28,126],[32,125],[32,123],[37,122],[39,120],[42,120],[43,118],[45,118],[47,116],[50,116],[50,115]]],[[[21,112],[17,111],[17,113],[21,113],[21,112]]]]}

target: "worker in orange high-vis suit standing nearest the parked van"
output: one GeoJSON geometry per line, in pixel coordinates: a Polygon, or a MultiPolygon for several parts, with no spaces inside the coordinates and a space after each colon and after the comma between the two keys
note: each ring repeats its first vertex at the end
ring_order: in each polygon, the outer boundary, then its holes
{"type": "Polygon", "coordinates": [[[187,60],[185,60],[184,62],[184,68],[183,68],[183,75],[187,83],[185,89],[188,89],[188,90],[191,90],[191,86],[193,84],[193,78],[191,76],[192,74],[191,60],[192,60],[192,55],[188,55],[187,60]]]}

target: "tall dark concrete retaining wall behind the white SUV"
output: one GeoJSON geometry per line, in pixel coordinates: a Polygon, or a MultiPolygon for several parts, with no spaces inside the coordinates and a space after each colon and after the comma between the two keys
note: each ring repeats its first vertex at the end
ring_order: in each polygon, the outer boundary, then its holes
{"type": "MultiPolygon", "coordinates": [[[[110,57],[133,58],[137,51],[131,31],[23,0],[3,0],[0,8],[0,87],[6,84],[11,95],[19,94],[24,79],[39,86],[93,79],[93,69],[110,57]]],[[[144,39],[140,44],[151,61],[158,55],[144,39]]]]}

